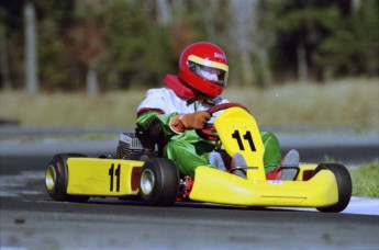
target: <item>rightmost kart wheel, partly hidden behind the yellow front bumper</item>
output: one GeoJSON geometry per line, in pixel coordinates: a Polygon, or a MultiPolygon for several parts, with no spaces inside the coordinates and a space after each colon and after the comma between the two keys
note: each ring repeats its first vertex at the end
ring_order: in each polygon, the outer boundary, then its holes
{"type": "Polygon", "coordinates": [[[353,185],[350,174],[343,164],[322,163],[314,170],[313,175],[316,174],[320,170],[324,169],[330,170],[334,173],[338,186],[338,202],[337,204],[332,206],[317,207],[317,211],[332,213],[342,212],[346,208],[352,197],[353,185]]]}

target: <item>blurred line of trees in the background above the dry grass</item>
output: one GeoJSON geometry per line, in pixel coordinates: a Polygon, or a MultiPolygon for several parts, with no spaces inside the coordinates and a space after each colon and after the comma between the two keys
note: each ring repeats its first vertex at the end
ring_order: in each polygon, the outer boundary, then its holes
{"type": "Polygon", "coordinates": [[[161,86],[196,41],[226,52],[234,86],[379,73],[377,0],[3,0],[1,89],[31,78],[27,8],[38,90],[161,86]]]}

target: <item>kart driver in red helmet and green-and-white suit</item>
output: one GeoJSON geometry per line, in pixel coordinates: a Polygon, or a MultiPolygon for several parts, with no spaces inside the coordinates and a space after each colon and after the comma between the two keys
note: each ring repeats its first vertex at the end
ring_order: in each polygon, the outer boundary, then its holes
{"type": "MultiPolygon", "coordinates": [[[[180,56],[178,76],[166,75],[166,88],[148,90],[137,107],[137,127],[155,143],[165,145],[165,157],[176,163],[181,177],[193,179],[198,167],[218,168],[216,162],[222,161],[212,152],[214,141],[200,138],[194,129],[203,128],[211,120],[205,112],[209,107],[228,102],[220,96],[227,73],[227,58],[219,46],[193,43],[180,56]]],[[[260,136],[268,173],[280,163],[280,146],[274,134],[261,132],[260,136]]],[[[235,167],[246,167],[241,157],[233,157],[235,167]]]]}

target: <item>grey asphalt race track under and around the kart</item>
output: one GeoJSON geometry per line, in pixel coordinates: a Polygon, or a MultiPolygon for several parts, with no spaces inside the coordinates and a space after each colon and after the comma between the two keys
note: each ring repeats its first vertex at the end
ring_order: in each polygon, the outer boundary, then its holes
{"type": "MultiPolygon", "coordinates": [[[[286,138],[280,137],[283,148],[291,147],[286,138]]],[[[328,157],[342,157],[350,162],[359,161],[367,151],[371,154],[366,160],[378,157],[378,138],[355,139],[355,145],[344,138],[338,144],[326,143],[323,149],[301,148],[301,141],[312,140],[309,137],[294,138],[291,143],[300,147],[302,156],[314,159],[317,158],[314,155],[324,152],[325,148],[333,149],[325,150],[327,154],[337,152],[328,157]],[[349,148],[354,150],[346,151],[349,148]]],[[[314,209],[193,203],[148,207],[138,201],[116,198],[91,198],[85,204],[57,203],[47,196],[44,168],[52,152],[71,149],[69,151],[88,155],[112,154],[115,144],[109,140],[1,140],[1,249],[379,248],[379,203],[376,200],[353,197],[344,213],[324,214],[314,209]]]]}

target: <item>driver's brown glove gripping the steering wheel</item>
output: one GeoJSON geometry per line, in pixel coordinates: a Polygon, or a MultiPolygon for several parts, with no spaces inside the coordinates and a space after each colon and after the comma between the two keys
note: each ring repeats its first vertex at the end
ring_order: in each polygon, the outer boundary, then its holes
{"type": "Polygon", "coordinates": [[[189,114],[178,114],[171,118],[170,127],[176,133],[188,129],[201,129],[212,116],[205,111],[189,114]]]}

